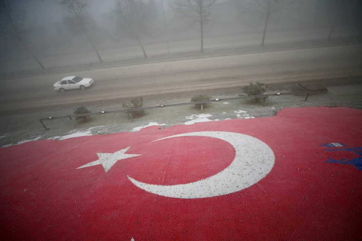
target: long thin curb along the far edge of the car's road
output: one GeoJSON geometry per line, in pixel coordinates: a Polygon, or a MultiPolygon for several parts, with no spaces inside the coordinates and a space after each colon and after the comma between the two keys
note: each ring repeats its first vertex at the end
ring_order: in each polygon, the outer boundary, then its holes
{"type": "Polygon", "coordinates": [[[267,52],[288,51],[288,50],[303,50],[303,49],[308,49],[308,48],[336,47],[336,46],[357,45],[357,44],[361,44],[361,43],[342,43],[342,44],[329,44],[329,45],[311,46],[311,47],[280,48],[280,49],[274,49],[274,50],[262,50],[262,51],[226,53],[226,54],[220,54],[220,55],[185,57],[185,58],[170,59],[170,60],[155,60],[155,61],[147,61],[147,62],[141,62],[141,63],[102,66],[102,67],[94,67],[94,68],[84,68],[84,69],[79,69],[79,70],[75,70],[75,71],[60,71],[60,72],[52,72],[52,73],[46,73],[46,74],[33,74],[33,75],[26,75],[26,76],[22,76],[22,77],[13,77],[13,78],[7,78],[7,79],[0,79],[0,81],[9,80],[9,79],[29,78],[29,77],[36,77],[36,76],[47,76],[47,75],[53,75],[53,74],[64,74],[64,73],[70,73],[70,72],[81,72],[81,71],[96,70],[96,69],[110,69],[110,68],[118,68],[118,67],[131,66],[131,65],[153,64],[153,63],[162,63],[162,62],[171,62],[171,61],[180,61],[180,60],[190,60],[190,59],[205,59],[205,58],[233,56],[233,55],[246,55],[246,54],[252,54],[252,53],[267,53],[267,52]]]}

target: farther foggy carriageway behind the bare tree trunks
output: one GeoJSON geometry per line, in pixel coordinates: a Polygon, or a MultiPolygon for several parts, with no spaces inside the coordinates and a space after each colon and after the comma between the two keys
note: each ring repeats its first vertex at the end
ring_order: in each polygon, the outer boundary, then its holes
{"type": "MultiPolygon", "coordinates": [[[[308,42],[323,40],[328,36],[329,29],[312,29],[303,31],[268,32],[265,45],[270,44],[290,44],[298,42],[308,42]]],[[[353,29],[336,28],[334,38],[344,38],[355,35],[353,29]]],[[[206,51],[257,46],[262,39],[262,31],[258,34],[245,34],[237,36],[222,36],[218,38],[205,38],[204,48],[206,51]]],[[[163,40],[160,40],[163,41],[163,40]]],[[[144,48],[148,56],[163,56],[167,54],[166,43],[145,44],[144,48]]],[[[170,53],[187,53],[200,51],[200,40],[184,40],[169,43],[170,53]]],[[[64,50],[69,51],[69,50],[64,50]]],[[[99,53],[104,62],[143,58],[143,52],[139,46],[103,49],[99,48],[99,53]]],[[[215,52],[220,54],[219,51],[215,52]]],[[[1,59],[1,56],[0,56],[1,59]]],[[[98,58],[94,51],[83,53],[63,54],[58,56],[38,56],[38,59],[46,68],[54,66],[72,66],[80,64],[97,63],[98,58]]],[[[0,73],[20,70],[39,69],[39,65],[34,59],[22,58],[17,60],[1,59],[0,73]]]]}

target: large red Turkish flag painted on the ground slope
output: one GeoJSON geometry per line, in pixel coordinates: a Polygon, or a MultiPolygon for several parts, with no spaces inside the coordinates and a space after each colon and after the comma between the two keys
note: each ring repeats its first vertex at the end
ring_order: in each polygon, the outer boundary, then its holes
{"type": "Polygon", "coordinates": [[[362,111],[0,149],[0,240],[358,240],[362,111]]]}

